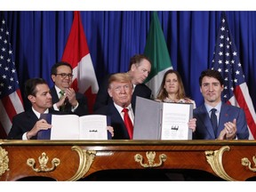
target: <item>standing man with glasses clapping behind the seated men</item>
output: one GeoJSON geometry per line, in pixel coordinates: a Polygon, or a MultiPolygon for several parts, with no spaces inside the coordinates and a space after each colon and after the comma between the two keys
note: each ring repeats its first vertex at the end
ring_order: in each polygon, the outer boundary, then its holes
{"type": "Polygon", "coordinates": [[[71,65],[63,61],[55,63],[52,66],[51,76],[54,83],[51,89],[52,108],[77,116],[88,115],[86,97],[70,87],[73,77],[71,65]]]}

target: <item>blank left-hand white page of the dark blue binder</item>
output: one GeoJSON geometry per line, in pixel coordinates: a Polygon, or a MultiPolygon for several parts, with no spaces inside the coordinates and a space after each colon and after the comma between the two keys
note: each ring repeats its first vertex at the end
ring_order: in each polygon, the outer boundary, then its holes
{"type": "Polygon", "coordinates": [[[79,116],[52,115],[51,140],[79,140],[79,116]]]}

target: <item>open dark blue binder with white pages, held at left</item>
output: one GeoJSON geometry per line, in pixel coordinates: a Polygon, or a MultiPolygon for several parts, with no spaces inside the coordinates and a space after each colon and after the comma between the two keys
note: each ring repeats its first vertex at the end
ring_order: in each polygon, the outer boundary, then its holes
{"type": "Polygon", "coordinates": [[[41,114],[52,128],[37,133],[37,140],[111,140],[108,116],[41,114]]]}

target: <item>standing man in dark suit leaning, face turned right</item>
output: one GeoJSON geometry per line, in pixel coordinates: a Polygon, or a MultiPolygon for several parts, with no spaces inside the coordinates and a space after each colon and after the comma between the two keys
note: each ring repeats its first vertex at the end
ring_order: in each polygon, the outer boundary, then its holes
{"type": "MultiPolygon", "coordinates": [[[[127,74],[131,76],[133,91],[132,91],[132,109],[135,111],[136,96],[142,98],[150,99],[151,90],[143,82],[148,77],[151,70],[151,63],[145,55],[136,54],[130,60],[130,67],[127,74]]],[[[105,77],[105,79],[100,84],[99,92],[95,100],[93,110],[108,105],[112,102],[112,99],[108,95],[108,78],[112,74],[105,77]]]]}

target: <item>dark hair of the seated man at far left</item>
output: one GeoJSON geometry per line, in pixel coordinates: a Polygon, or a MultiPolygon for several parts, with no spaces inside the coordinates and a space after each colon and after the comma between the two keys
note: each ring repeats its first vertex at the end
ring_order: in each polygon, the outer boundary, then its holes
{"type": "MultiPolygon", "coordinates": [[[[43,78],[30,78],[25,83],[25,95],[36,96],[36,85],[37,84],[47,84],[43,78]]],[[[47,84],[48,85],[48,84],[47,84]]]]}

